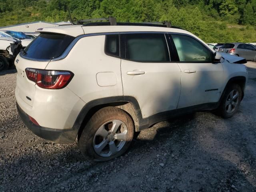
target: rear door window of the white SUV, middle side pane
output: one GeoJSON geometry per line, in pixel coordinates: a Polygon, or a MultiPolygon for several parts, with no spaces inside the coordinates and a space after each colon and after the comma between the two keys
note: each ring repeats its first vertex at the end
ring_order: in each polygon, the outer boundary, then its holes
{"type": "Polygon", "coordinates": [[[122,34],[124,58],[138,62],[170,62],[164,34],[122,34]]]}

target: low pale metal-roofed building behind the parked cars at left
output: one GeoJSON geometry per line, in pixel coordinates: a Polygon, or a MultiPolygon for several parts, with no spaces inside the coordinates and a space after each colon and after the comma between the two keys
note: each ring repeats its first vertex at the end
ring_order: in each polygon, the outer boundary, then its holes
{"type": "Polygon", "coordinates": [[[0,27],[0,30],[10,30],[10,31],[25,32],[25,33],[33,33],[39,28],[54,27],[54,26],[59,26],[59,24],[48,23],[48,22],[44,22],[44,21],[36,21],[36,22],[0,27]]]}

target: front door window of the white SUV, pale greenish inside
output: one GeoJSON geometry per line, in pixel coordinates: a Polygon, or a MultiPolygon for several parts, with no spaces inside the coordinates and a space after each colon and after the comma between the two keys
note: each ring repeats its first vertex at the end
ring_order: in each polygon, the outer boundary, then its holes
{"type": "Polygon", "coordinates": [[[206,46],[186,35],[172,35],[180,62],[212,62],[212,54],[206,46]]]}

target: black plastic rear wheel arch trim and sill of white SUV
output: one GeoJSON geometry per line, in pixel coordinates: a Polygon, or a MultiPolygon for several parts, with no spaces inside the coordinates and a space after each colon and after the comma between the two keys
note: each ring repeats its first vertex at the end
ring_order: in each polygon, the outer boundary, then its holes
{"type": "Polygon", "coordinates": [[[180,115],[189,114],[191,112],[196,112],[200,110],[213,110],[218,107],[218,102],[206,103],[206,104],[200,104],[200,105],[181,108],[181,109],[174,109],[170,111],[160,112],[157,114],[153,114],[152,116],[149,116],[147,118],[143,118],[140,106],[136,98],[134,98],[133,96],[113,96],[113,97],[107,97],[107,98],[100,98],[100,99],[96,99],[88,102],[82,108],[80,114],[76,118],[76,121],[72,129],[74,130],[74,132],[76,132],[76,134],[78,134],[78,139],[79,139],[83,127],[86,125],[88,120],[92,117],[92,115],[97,110],[106,106],[122,106],[128,103],[132,104],[132,107],[135,113],[136,119],[133,118],[133,120],[134,122],[136,122],[136,125],[135,125],[136,132],[149,128],[158,122],[168,120],[170,118],[174,118],[180,115]]]}

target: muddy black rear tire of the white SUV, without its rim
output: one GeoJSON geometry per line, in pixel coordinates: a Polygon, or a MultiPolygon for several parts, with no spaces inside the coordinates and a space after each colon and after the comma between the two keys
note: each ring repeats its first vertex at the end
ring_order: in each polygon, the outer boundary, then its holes
{"type": "MultiPolygon", "coordinates": [[[[116,135],[118,135],[118,133],[116,133],[116,135]]],[[[84,130],[82,130],[80,138],[78,139],[78,146],[80,148],[80,151],[85,157],[89,157],[94,161],[108,161],[118,156],[121,156],[124,152],[126,152],[126,150],[128,149],[128,147],[132,142],[133,137],[134,137],[134,123],[130,118],[130,116],[124,110],[121,110],[119,108],[106,107],[98,110],[92,116],[92,118],[90,118],[90,120],[84,127],[84,130]],[[112,133],[110,134],[111,130],[108,130],[108,128],[111,129],[114,127],[114,123],[112,123],[112,125],[111,125],[111,122],[108,123],[109,121],[112,121],[112,120],[113,122],[116,120],[122,122],[122,124],[118,129],[121,130],[121,128],[124,129],[125,127],[125,129],[127,130],[127,132],[125,131],[127,136],[126,136],[125,142],[121,144],[121,146],[123,145],[122,148],[120,148],[118,152],[110,156],[102,156],[101,154],[108,155],[111,153],[111,150],[110,150],[111,143],[113,144],[113,142],[114,143],[119,142],[120,144],[121,142],[124,141],[124,140],[118,140],[118,139],[113,141],[114,134],[112,136],[112,133]],[[108,131],[108,135],[106,136],[106,138],[104,138],[105,136],[96,135],[96,132],[100,130],[100,128],[101,130],[103,130],[102,127],[104,127],[104,129],[108,131]],[[109,138],[110,136],[112,138],[109,138]],[[102,144],[103,142],[104,143],[108,142],[108,144],[106,144],[106,146],[104,147],[104,150],[106,150],[106,152],[102,150],[104,152],[101,151],[102,153],[100,154],[99,152],[96,153],[94,149],[94,147],[96,146],[96,139],[99,144],[102,144]],[[109,152],[107,154],[108,150],[109,152]]],[[[115,144],[115,145],[118,145],[118,144],[115,144]]],[[[116,148],[118,149],[118,146],[116,146],[116,148]]]]}

